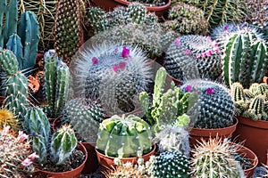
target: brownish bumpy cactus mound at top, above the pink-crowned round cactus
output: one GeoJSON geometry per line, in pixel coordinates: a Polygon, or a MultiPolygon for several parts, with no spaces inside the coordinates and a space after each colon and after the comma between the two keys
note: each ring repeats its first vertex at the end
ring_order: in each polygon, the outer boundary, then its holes
{"type": "Polygon", "coordinates": [[[208,22],[204,15],[205,13],[196,6],[180,2],[172,5],[168,20],[164,21],[163,26],[179,34],[206,35],[208,22]]]}

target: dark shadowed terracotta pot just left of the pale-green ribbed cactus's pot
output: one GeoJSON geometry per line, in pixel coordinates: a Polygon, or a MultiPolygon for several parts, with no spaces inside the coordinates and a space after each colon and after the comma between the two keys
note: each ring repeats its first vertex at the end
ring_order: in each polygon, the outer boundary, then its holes
{"type": "Polygon", "coordinates": [[[92,174],[96,172],[96,168],[98,167],[96,150],[95,150],[96,143],[95,142],[81,142],[81,143],[88,151],[88,159],[86,161],[84,169],[82,170],[82,174],[92,174]]]}

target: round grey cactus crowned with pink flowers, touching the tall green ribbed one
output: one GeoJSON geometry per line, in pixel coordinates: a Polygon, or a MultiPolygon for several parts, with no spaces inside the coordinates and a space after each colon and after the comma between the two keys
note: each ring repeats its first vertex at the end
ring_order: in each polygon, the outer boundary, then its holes
{"type": "Polygon", "coordinates": [[[217,42],[210,36],[181,36],[167,49],[164,67],[179,80],[216,79],[222,73],[222,55],[217,42]]]}

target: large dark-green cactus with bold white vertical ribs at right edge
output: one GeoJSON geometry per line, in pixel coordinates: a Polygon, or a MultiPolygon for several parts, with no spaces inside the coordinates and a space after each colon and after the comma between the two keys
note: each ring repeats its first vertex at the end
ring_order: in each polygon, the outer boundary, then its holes
{"type": "Polygon", "coordinates": [[[233,33],[224,48],[223,79],[226,85],[239,82],[245,88],[260,83],[268,64],[267,44],[249,28],[233,33]]]}

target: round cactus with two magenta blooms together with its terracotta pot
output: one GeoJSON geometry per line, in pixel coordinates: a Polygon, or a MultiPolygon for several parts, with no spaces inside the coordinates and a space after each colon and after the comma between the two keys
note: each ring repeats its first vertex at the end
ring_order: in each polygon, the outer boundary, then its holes
{"type": "Polygon", "coordinates": [[[235,105],[229,90],[220,84],[205,79],[188,80],[180,87],[184,92],[198,93],[198,100],[189,110],[190,145],[197,144],[203,137],[230,138],[236,130],[238,120],[234,117],[235,105]]]}

